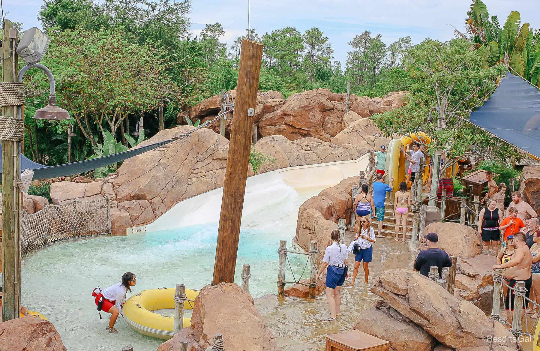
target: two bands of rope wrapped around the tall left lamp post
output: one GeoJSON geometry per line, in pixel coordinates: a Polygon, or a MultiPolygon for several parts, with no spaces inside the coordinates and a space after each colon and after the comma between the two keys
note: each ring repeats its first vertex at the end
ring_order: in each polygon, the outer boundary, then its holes
{"type": "MultiPolygon", "coordinates": [[[[0,82],[0,107],[24,105],[22,82],[0,82]]],[[[21,141],[23,121],[17,117],[0,116],[0,140],[21,141]]]]}

